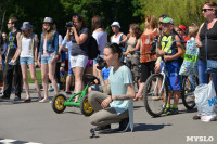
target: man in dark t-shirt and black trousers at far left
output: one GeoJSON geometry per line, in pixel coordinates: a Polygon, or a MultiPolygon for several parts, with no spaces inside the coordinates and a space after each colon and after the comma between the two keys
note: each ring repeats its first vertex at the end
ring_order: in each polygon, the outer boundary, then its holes
{"type": "Polygon", "coordinates": [[[21,32],[16,28],[17,19],[11,17],[8,23],[8,29],[11,32],[8,35],[9,49],[5,56],[5,68],[3,73],[4,91],[0,99],[9,100],[11,95],[12,81],[14,79],[15,87],[15,99],[14,101],[21,100],[21,87],[22,87],[22,71],[20,65],[20,58],[14,63],[11,61],[14,58],[17,43],[20,42],[21,32]]]}

